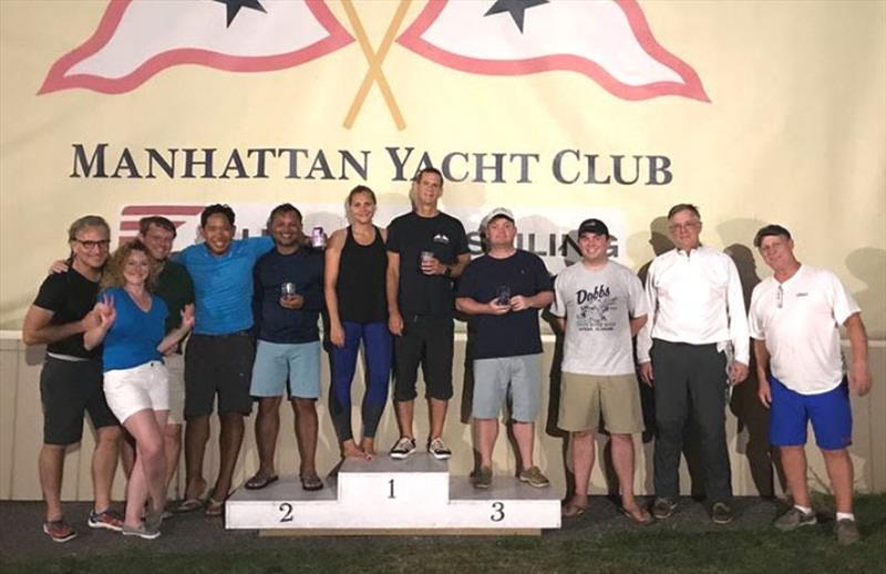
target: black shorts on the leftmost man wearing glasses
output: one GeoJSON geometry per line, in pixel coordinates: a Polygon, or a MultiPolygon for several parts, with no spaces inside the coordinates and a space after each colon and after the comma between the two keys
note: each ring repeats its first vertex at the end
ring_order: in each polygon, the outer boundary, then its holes
{"type": "Polygon", "coordinates": [[[120,425],[104,399],[103,382],[101,361],[63,361],[47,356],[40,372],[43,443],[80,442],[84,411],[90,414],[95,428],[120,425]]]}

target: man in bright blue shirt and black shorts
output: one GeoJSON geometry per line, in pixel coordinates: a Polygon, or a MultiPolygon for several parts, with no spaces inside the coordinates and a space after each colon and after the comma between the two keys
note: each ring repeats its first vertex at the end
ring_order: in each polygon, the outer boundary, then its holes
{"type": "Polygon", "coordinates": [[[218,395],[220,451],[218,479],[206,507],[220,515],[230,492],[240,451],[244,416],[253,409],[249,380],[255,358],[253,265],[270,251],[269,237],[234,240],[234,210],[212,205],[200,215],[204,243],[178,254],[194,280],[196,325],[185,351],[185,501],[182,512],[200,508],[206,488],[203,459],[209,439],[209,415],[218,395]]]}

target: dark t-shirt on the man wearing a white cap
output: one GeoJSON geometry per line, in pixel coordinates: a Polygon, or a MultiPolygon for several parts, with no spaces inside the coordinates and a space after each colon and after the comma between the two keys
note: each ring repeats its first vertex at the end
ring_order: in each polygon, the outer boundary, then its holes
{"type": "MultiPolygon", "coordinates": [[[[533,296],[553,291],[550,275],[538,255],[518,249],[505,259],[484,255],[475,259],[462,273],[459,296],[488,303],[506,285],[511,295],[533,296]]],[[[511,311],[504,315],[472,315],[476,330],[473,358],[515,357],[542,352],[537,309],[511,311]]]]}

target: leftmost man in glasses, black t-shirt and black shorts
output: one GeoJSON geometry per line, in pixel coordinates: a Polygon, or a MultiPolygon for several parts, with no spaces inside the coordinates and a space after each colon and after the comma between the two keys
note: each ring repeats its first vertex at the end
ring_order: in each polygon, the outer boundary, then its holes
{"type": "Polygon", "coordinates": [[[83,436],[83,414],[95,427],[92,481],[95,502],[86,520],[90,528],[120,532],[123,518],[111,510],[111,487],[117,465],[121,428],[104,398],[102,347],[86,351],[83,333],[95,324],[93,307],[99,281],[107,261],[111,230],[99,216],[85,216],[71,225],[68,271],[52,273],[40,285],[24,316],[25,345],[47,345],[40,373],[43,406],[43,447],[40,450],[40,486],[47,501],[43,532],[54,542],[68,542],[76,532],[61,507],[64,453],[83,436]]]}

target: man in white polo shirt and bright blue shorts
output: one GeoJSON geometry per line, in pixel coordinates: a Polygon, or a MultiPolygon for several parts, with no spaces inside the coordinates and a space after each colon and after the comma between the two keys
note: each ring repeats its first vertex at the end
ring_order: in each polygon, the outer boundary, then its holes
{"type": "Polygon", "coordinates": [[[872,384],[861,310],[834,273],[796,260],[791,232],[782,226],[760,229],[754,247],[774,273],[751,295],[758,396],[772,409],[769,440],[779,447],[793,498],[775,528],[793,531],[817,523],[806,486],[806,427],[812,421],[836,499],[834,533],[839,544],[852,544],[861,536],[852,510],[849,390],[863,396],[872,384]],[[852,349],[848,376],[841,325],[852,349]]]}

